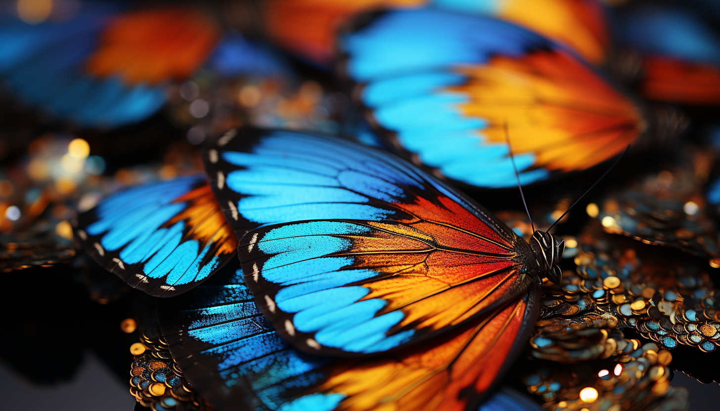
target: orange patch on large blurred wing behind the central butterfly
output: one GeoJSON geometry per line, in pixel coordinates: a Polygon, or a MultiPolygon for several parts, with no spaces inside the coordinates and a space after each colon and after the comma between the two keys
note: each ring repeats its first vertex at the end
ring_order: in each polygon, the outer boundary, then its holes
{"type": "Polygon", "coordinates": [[[539,51],[521,58],[495,56],[458,71],[467,83],[449,91],[469,96],[460,110],[489,122],[487,140],[534,153],[536,166],[573,171],[621,153],[647,128],[639,107],[570,53],[539,51]]]}

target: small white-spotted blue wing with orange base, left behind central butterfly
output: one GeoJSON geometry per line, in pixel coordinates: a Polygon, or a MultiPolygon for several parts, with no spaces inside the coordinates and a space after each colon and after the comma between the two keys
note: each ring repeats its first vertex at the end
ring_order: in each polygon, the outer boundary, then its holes
{"type": "Polygon", "coordinates": [[[192,289],[238,244],[204,176],[120,191],[78,216],[75,235],[104,268],[158,297],[192,289]]]}

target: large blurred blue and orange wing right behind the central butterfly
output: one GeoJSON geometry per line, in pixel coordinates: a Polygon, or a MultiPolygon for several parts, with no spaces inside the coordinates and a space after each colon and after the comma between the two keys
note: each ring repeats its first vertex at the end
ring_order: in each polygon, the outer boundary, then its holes
{"type": "Polygon", "coordinates": [[[499,19],[384,12],[341,49],[379,132],[471,186],[516,184],[505,124],[523,183],[606,161],[646,127],[639,107],[578,55],[499,19]]]}

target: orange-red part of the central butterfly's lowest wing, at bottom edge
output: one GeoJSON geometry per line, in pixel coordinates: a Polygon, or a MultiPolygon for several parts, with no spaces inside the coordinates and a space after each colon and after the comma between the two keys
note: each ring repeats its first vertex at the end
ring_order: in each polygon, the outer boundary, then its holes
{"type": "Polygon", "coordinates": [[[328,379],[312,391],[341,399],[334,410],[477,410],[526,340],[534,324],[534,298],[515,299],[402,356],[387,354],[353,366],[335,363],[328,379]]]}

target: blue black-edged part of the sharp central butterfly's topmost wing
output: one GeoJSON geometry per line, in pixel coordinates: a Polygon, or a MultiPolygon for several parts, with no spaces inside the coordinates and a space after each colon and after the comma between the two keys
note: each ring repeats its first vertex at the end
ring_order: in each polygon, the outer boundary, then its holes
{"type": "Polygon", "coordinates": [[[202,158],[210,186],[238,238],[261,225],[302,220],[412,220],[403,203],[438,196],[505,230],[508,239],[514,235],[480,205],[424,171],[338,137],[231,129],[208,146],[202,158]]]}

